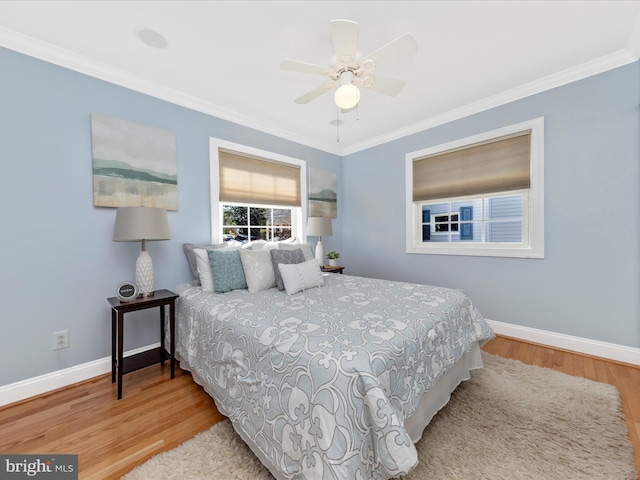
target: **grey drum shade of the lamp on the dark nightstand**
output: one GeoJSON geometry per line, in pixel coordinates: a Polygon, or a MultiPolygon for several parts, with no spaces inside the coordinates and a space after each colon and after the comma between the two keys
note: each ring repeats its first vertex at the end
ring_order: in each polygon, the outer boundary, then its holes
{"type": "Polygon", "coordinates": [[[170,239],[166,210],[152,207],[120,207],[116,211],[114,242],[170,239]]]}

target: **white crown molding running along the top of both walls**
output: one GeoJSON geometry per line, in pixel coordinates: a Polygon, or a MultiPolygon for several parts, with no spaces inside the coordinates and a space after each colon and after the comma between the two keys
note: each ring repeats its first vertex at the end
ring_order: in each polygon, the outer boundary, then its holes
{"type": "Polygon", "coordinates": [[[143,77],[133,75],[123,70],[118,70],[110,65],[97,62],[95,59],[79,55],[77,53],[56,47],[36,38],[24,35],[5,27],[0,27],[0,46],[10,50],[38,58],[45,62],[53,63],[70,70],[89,75],[106,82],[129,88],[136,92],[144,93],[155,98],[166,100],[197,112],[238,123],[240,125],[256,129],[261,132],[276,135],[285,140],[300,143],[308,147],[333,153],[339,156],[346,156],[360,152],[384,143],[397,140],[399,138],[422,132],[438,125],[468,117],[475,113],[483,112],[490,108],[505,105],[509,102],[535,95],[553,88],[566,85],[571,82],[582,80],[583,78],[597,75],[614,68],[622,67],[638,60],[640,56],[640,17],[636,21],[636,27],[629,39],[627,48],[605,55],[603,57],[585,62],[561,72],[548,75],[541,79],[529,82],[524,85],[512,88],[497,95],[493,95],[477,102],[473,102],[463,107],[450,110],[440,115],[427,118],[421,122],[408,125],[407,127],[388,132],[386,134],[365,140],[342,148],[340,145],[319,142],[318,140],[302,136],[298,133],[275,127],[271,123],[262,122],[254,118],[249,118],[237,112],[230,111],[210,102],[205,102],[200,98],[193,97],[184,92],[167,88],[156,82],[143,77]]]}

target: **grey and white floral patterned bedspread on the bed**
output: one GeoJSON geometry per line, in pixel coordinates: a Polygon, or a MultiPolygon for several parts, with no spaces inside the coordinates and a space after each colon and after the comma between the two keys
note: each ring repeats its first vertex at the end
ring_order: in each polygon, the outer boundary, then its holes
{"type": "Polygon", "coordinates": [[[457,290],[325,282],[291,296],[178,286],[178,358],[277,478],[406,474],[418,458],[404,419],[493,332],[457,290]]]}

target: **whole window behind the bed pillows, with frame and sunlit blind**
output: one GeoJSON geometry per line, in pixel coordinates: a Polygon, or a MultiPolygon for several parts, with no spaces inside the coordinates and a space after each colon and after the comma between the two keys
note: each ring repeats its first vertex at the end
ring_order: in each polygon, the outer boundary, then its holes
{"type": "Polygon", "coordinates": [[[212,138],[211,239],[304,238],[306,162],[212,138]]]}

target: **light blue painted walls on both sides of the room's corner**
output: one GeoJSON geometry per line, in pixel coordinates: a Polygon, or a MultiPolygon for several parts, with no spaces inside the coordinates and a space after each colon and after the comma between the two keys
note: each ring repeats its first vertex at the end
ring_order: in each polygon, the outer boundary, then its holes
{"type": "MultiPolygon", "coordinates": [[[[347,273],[461,288],[493,320],[640,347],[638,66],[340,159],[0,49],[0,385],[110,356],[106,297],[133,278],[138,247],[112,242],[115,210],[93,206],[91,112],[176,133],[172,240],[149,244],[157,288],[190,280],[182,243],[209,241],[213,136],[338,173],[338,218],[323,243],[347,273]],[[405,154],[538,116],[546,258],[404,253],[405,154]],[[66,329],[71,346],[51,350],[51,333],[66,329]]],[[[155,314],[137,315],[126,349],[157,341],[155,314]]]]}

